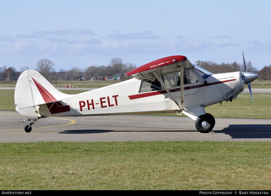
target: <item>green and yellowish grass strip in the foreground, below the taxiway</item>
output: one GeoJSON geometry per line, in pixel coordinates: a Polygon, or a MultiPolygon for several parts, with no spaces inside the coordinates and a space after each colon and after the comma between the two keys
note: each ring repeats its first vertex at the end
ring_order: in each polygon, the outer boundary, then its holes
{"type": "Polygon", "coordinates": [[[270,190],[270,142],[0,144],[1,190],[270,190]]]}

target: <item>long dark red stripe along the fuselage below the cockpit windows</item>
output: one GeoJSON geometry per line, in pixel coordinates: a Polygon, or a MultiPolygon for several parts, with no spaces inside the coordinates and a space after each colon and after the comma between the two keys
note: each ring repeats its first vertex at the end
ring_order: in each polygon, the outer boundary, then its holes
{"type": "MultiPolygon", "coordinates": [[[[219,82],[212,82],[212,83],[209,83],[209,84],[200,84],[200,85],[195,85],[195,86],[190,86],[190,87],[183,87],[183,90],[206,87],[206,86],[221,84],[221,83],[230,82],[230,81],[234,81],[234,80],[236,80],[236,79],[219,81],[219,82]]],[[[180,88],[175,88],[175,89],[169,90],[169,92],[177,92],[177,91],[180,91],[180,90],[181,90],[180,88]]],[[[160,95],[160,94],[166,94],[166,93],[167,93],[167,91],[163,90],[163,91],[147,92],[147,93],[137,94],[137,95],[130,95],[128,97],[129,97],[130,100],[132,100],[132,99],[139,99],[139,98],[143,98],[143,97],[151,97],[151,96],[154,96],[154,95],[160,95]]]]}

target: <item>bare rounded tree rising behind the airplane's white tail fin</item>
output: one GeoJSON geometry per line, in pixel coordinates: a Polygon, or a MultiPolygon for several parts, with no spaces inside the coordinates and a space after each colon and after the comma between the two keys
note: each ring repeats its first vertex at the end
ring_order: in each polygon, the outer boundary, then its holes
{"type": "Polygon", "coordinates": [[[40,72],[47,80],[51,81],[50,72],[54,72],[54,62],[48,59],[40,59],[36,66],[36,70],[40,72]]]}

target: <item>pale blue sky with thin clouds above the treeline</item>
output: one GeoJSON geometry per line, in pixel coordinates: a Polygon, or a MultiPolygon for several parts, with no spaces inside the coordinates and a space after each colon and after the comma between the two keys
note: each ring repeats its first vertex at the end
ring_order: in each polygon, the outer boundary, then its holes
{"type": "Polygon", "coordinates": [[[190,61],[271,64],[271,1],[0,1],[0,67],[56,71],[137,67],[176,55],[190,61]],[[172,49],[174,48],[174,50],[172,49]]]}

